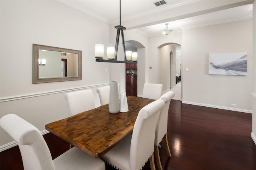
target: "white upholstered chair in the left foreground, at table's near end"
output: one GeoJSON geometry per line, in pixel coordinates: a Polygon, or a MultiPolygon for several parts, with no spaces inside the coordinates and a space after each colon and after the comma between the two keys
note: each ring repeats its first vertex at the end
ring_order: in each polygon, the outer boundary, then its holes
{"type": "Polygon", "coordinates": [[[15,114],[4,115],[0,126],[18,143],[24,170],[105,170],[105,163],[74,147],[52,160],[40,131],[15,114]]]}

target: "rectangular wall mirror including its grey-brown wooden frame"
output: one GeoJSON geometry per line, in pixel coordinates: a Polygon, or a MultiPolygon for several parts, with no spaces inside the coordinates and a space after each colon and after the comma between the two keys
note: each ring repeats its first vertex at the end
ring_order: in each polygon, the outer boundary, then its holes
{"type": "Polygon", "coordinates": [[[33,44],[33,83],[82,80],[82,51],[33,44]]]}

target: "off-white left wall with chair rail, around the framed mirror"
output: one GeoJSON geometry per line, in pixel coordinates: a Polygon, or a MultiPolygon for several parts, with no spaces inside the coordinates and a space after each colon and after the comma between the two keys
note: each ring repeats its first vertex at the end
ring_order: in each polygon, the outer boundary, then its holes
{"type": "MultiPolygon", "coordinates": [[[[94,59],[94,44],[109,43],[109,24],[58,1],[0,1],[0,116],[15,113],[40,131],[67,117],[64,94],[109,83],[108,63],[94,59]],[[82,80],[32,84],[32,44],[82,51],[82,80]]],[[[13,141],[1,129],[0,146],[13,141]]]]}

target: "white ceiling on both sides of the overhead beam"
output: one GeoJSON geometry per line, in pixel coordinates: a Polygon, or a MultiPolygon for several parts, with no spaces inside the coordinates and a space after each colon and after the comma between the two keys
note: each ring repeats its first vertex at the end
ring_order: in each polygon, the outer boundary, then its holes
{"type": "MultiPolygon", "coordinates": [[[[119,0],[58,0],[72,8],[94,16],[110,24],[119,23],[119,0]]],[[[200,0],[165,0],[166,4],[156,6],[158,0],[121,0],[121,21],[183,6],[200,0]]],[[[213,25],[229,21],[252,18],[252,4],[229,8],[217,12],[194,16],[182,20],[169,21],[168,29],[173,31],[192,27],[213,25]]],[[[165,23],[136,28],[147,36],[160,35],[165,23]]],[[[125,26],[125,25],[123,25],[125,26]]]]}

